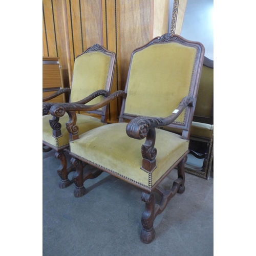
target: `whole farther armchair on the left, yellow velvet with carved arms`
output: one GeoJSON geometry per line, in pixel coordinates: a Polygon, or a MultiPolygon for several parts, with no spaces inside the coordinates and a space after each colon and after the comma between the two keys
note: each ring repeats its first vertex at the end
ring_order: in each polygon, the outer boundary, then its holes
{"type": "MultiPolygon", "coordinates": [[[[65,88],[59,90],[53,95],[44,98],[43,101],[51,100],[53,97],[66,92],[70,93],[69,102],[80,104],[90,102],[95,104],[102,101],[110,95],[115,62],[116,54],[114,52],[110,52],[97,44],[88,48],[75,59],[71,89],[65,88]]],[[[66,129],[69,115],[66,113],[60,119],[54,118],[54,120],[51,120],[52,116],[47,114],[53,104],[51,102],[42,104],[43,151],[47,152],[49,149],[56,151],[55,156],[61,162],[57,170],[61,178],[59,187],[65,188],[72,183],[68,179],[68,174],[74,170],[73,166],[67,168],[67,160],[64,154],[65,151],[69,151],[69,133],[66,129]]],[[[106,122],[108,105],[95,109],[91,113],[100,115],[101,119],[89,115],[77,114],[76,121],[79,125],[79,133],[84,133],[95,127],[102,126],[106,122]]]]}

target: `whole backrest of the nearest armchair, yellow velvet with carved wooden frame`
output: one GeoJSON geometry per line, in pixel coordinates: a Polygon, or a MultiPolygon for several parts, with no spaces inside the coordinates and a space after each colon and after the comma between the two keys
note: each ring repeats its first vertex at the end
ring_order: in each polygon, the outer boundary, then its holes
{"type": "MultiPolygon", "coordinates": [[[[170,34],[136,49],[131,57],[121,117],[167,117],[185,96],[195,97],[201,72],[195,67],[202,62],[201,51],[204,48],[200,43],[170,34]]],[[[194,110],[183,111],[170,126],[187,129],[190,111],[194,110]]]]}

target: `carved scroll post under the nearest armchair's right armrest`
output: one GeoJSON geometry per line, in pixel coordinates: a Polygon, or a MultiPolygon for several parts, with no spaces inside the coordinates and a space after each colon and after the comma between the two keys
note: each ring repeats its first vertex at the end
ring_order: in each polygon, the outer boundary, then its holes
{"type": "Polygon", "coordinates": [[[157,149],[154,147],[156,141],[156,129],[152,128],[148,131],[145,143],[141,146],[141,154],[143,157],[142,168],[151,172],[156,167],[157,149]]]}

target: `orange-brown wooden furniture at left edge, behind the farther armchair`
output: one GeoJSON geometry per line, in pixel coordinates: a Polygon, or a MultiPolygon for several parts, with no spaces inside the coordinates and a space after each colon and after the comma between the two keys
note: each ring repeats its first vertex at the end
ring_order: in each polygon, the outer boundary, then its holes
{"type": "MultiPolygon", "coordinates": [[[[47,97],[60,89],[63,89],[63,78],[59,58],[42,57],[42,97],[47,97]]],[[[49,101],[66,102],[65,94],[49,101]]]]}

